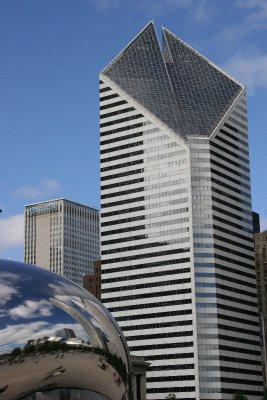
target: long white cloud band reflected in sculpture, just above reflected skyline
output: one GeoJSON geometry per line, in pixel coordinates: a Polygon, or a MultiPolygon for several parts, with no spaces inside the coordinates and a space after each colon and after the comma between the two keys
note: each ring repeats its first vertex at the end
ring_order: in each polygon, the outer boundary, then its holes
{"type": "Polygon", "coordinates": [[[77,338],[84,338],[85,333],[80,324],[49,324],[45,321],[36,321],[28,324],[8,325],[0,330],[1,353],[10,347],[24,346],[30,339],[39,339],[44,336],[53,337],[55,332],[62,328],[69,328],[75,332],[77,338]]]}

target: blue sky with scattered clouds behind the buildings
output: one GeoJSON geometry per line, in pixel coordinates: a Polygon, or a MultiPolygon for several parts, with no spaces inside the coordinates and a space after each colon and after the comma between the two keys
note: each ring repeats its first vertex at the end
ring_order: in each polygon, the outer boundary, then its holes
{"type": "Polygon", "coordinates": [[[247,85],[267,229],[266,0],[0,0],[0,258],[23,260],[26,204],[99,207],[98,74],[152,19],[247,85]]]}

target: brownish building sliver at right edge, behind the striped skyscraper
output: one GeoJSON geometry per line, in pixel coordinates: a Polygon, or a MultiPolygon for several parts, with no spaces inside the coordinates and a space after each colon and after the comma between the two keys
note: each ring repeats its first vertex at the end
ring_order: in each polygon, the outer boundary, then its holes
{"type": "Polygon", "coordinates": [[[267,230],[256,233],[255,241],[255,256],[256,256],[256,272],[257,272],[257,287],[259,310],[262,314],[262,328],[264,341],[264,380],[267,383],[267,368],[266,368],[266,345],[267,345],[267,230]]]}

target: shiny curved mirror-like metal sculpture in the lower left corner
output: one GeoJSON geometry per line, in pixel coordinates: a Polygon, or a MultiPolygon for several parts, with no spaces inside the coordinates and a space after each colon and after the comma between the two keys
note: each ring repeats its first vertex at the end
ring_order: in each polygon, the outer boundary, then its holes
{"type": "Polygon", "coordinates": [[[0,400],[130,399],[121,330],[93,295],[0,260],[0,400]]]}

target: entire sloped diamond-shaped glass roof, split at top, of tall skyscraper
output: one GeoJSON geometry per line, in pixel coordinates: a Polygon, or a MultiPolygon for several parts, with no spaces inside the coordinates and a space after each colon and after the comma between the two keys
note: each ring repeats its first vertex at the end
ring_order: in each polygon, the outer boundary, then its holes
{"type": "Polygon", "coordinates": [[[179,136],[209,136],[242,86],[153,23],[102,72],[179,136]]]}

